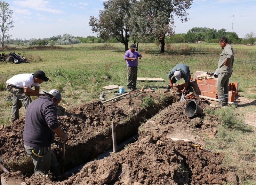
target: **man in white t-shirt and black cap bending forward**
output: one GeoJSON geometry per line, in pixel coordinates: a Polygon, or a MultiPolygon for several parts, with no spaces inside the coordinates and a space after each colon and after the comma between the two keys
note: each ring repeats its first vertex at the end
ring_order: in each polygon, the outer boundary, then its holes
{"type": "Polygon", "coordinates": [[[6,89],[13,94],[11,125],[16,119],[20,118],[19,109],[21,106],[23,105],[27,109],[32,102],[30,96],[42,95],[39,94],[40,84],[48,80],[49,78],[45,76],[45,73],[38,70],[34,74],[17,74],[6,81],[6,89]],[[31,89],[34,86],[35,89],[31,89]]]}

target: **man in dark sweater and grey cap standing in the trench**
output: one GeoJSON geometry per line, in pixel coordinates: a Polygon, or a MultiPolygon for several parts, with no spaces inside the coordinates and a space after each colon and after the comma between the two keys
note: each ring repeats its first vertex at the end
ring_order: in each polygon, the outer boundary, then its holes
{"type": "Polygon", "coordinates": [[[24,146],[32,157],[35,165],[35,174],[47,174],[52,171],[55,177],[60,176],[60,167],[56,156],[51,150],[54,134],[67,141],[68,135],[64,133],[57,120],[57,108],[61,100],[58,90],[44,91],[45,96],[39,96],[28,105],[24,126],[24,146]]]}

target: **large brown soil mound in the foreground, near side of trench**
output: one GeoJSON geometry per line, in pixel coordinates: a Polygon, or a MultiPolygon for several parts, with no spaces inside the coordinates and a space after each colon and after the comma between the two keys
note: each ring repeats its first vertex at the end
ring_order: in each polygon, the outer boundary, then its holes
{"type": "MultiPolygon", "coordinates": [[[[146,136],[108,158],[87,163],[62,182],[52,184],[221,184],[221,156],[198,150],[191,143],[146,136]]],[[[42,181],[44,179],[44,181],[42,181]]],[[[27,184],[45,178],[33,176],[27,184]]]]}

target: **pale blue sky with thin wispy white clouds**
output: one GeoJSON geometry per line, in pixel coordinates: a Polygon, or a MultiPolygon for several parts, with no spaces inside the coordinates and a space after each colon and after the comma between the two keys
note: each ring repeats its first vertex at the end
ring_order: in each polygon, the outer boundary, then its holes
{"type": "MultiPolygon", "coordinates": [[[[104,0],[5,0],[13,11],[12,39],[50,38],[70,34],[97,36],[88,25],[90,16],[98,17],[104,0]]],[[[121,1],[121,0],[120,0],[121,1]]],[[[187,10],[188,22],[178,17],[175,33],[187,33],[193,27],[234,31],[240,38],[253,32],[256,0],[193,0],[187,10]]]]}

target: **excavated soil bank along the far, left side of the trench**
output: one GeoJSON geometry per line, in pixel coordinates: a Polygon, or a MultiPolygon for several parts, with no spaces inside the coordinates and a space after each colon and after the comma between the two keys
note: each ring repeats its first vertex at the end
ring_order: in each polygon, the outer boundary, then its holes
{"type": "MultiPolygon", "coordinates": [[[[81,164],[84,162],[84,158],[94,158],[98,153],[107,150],[109,146],[112,145],[111,135],[108,137],[109,135],[107,133],[111,126],[111,121],[119,123],[138,112],[142,114],[140,115],[140,117],[142,117],[141,121],[144,121],[150,117],[147,116],[150,115],[150,112],[158,112],[163,108],[161,104],[158,104],[156,107],[149,107],[149,112],[147,112],[147,110],[143,111],[140,104],[144,97],[149,96],[157,101],[161,96],[157,93],[141,93],[134,96],[137,93],[139,93],[139,90],[130,93],[127,98],[123,98],[117,102],[109,102],[108,104],[102,104],[100,101],[84,103],[69,111],[66,111],[61,106],[57,107],[60,127],[69,136],[68,146],[66,146],[66,155],[73,156],[73,158],[67,159],[66,166],[81,164]],[[95,136],[99,134],[101,134],[101,141],[98,141],[100,143],[95,143],[97,140],[90,140],[90,138],[95,138],[95,136]],[[105,141],[106,137],[110,139],[110,142],[105,141]],[[86,142],[89,144],[82,146],[81,143],[86,142]],[[108,142],[108,144],[104,142],[108,142]],[[94,148],[86,152],[78,151],[78,153],[80,153],[80,156],[78,156],[71,151],[74,146],[94,148]]],[[[170,99],[170,97],[167,99],[170,99]]],[[[163,104],[166,106],[165,102],[163,104]]],[[[3,125],[0,127],[0,160],[4,162],[4,166],[9,171],[20,170],[22,173],[31,175],[33,173],[31,164],[33,165],[33,163],[32,160],[29,160],[23,145],[24,124],[25,118],[23,117],[15,121],[11,127],[3,125]],[[26,165],[27,163],[28,165],[26,165]]],[[[121,135],[120,137],[123,137],[124,140],[131,137],[131,135],[129,136],[129,130],[124,130],[123,132],[124,133],[120,133],[119,135],[121,135]]],[[[132,132],[136,133],[136,127],[132,132]]],[[[56,142],[52,145],[52,150],[57,158],[61,158],[61,145],[59,144],[61,140],[57,135],[55,135],[55,141],[56,142]]],[[[120,142],[123,141],[120,139],[120,142]]]]}

